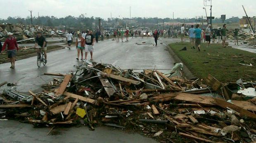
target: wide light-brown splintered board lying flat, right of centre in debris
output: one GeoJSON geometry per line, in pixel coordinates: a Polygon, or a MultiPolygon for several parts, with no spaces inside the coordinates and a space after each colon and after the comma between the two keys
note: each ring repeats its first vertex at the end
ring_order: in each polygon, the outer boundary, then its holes
{"type": "Polygon", "coordinates": [[[173,98],[174,100],[179,100],[179,101],[187,101],[190,103],[199,103],[202,105],[215,105],[211,101],[214,101],[213,97],[210,96],[200,96],[197,94],[186,94],[186,93],[178,93],[177,96],[173,98]]]}

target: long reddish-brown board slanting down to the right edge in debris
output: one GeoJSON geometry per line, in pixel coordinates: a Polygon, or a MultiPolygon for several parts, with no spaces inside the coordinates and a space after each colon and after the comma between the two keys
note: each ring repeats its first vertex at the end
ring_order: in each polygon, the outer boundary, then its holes
{"type": "Polygon", "coordinates": [[[217,99],[217,98],[214,101],[212,101],[212,103],[214,103],[224,109],[227,109],[227,107],[231,108],[232,110],[235,110],[238,113],[240,113],[241,116],[247,116],[247,117],[256,119],[256,115],[254,113],[251,113],[250,111],[245,110],[235,104],[232,104],[232,103],[229,103],[229,102],[223,101],[221,99],[217,99]]]}

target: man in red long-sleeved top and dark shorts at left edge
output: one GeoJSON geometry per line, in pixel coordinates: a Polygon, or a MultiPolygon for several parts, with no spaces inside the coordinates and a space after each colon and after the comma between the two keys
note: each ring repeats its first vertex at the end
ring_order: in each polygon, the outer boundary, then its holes
{"type": "Polygon", "coordinates": [[[17,40],[14,38],[12,33],[8,32],[7,33],[8,38],[5,40],[5,43],[2,47],[1,53],[5,50],[6,45],[7,45],[7,54],[8,58],[10,59],[11,62],[11,67],[10,68],[15,68],[15,57],[16,57],[16,50],[19,50],[17,40]]]}

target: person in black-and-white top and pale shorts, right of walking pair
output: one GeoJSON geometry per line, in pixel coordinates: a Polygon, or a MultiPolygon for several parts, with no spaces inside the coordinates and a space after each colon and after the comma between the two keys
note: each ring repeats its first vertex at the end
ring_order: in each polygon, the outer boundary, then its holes
{"type": "Polygon", "coordinates": [[[90,52],[90,54],[91,54],[91,59],[90,60],[91,61],[93,60],[92,59],[92,52],[94,51],[94,49],[93,49],[94,42],[95,42],[95,38],[92,35],[92,30],[90,30],[89,34],[87,34],[85,36],[85,60],[87,60],[88,52],[90,52]]]}

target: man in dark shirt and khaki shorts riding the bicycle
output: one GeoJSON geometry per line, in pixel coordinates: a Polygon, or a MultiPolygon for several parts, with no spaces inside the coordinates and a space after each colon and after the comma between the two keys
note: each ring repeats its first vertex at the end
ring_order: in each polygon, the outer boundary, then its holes
{"type": "Polygon", "coordinates": [[[47,44],[46,44],[45,37],[42,35],[40,31],[38,31],[36,36],[35,47],[38,48],[37,53],[40,53],[40,49],[43,48],[43,51],[45,53],[45,63],[47,63],[47,55],[46,55],[47,44]]]}

